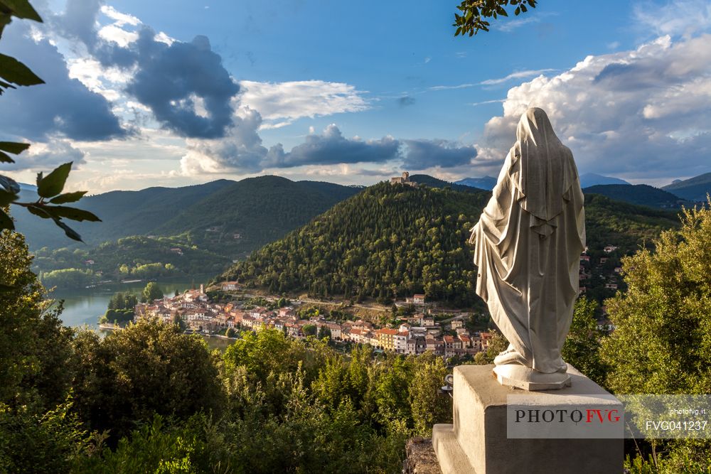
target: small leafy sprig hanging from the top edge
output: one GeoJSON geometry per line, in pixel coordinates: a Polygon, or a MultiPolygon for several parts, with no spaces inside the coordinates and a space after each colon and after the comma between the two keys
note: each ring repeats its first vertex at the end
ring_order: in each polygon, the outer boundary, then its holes
{"type": "Polygon", "coordinates": [[[515,6],[513,14],[518,16],[530,8],[535,9],[537,0],[464,0],[456,8],[461,14],[454,14],[456,26],[454,36],[474,36],[481,31],[489,31],[491,23],[486,18],[496,20],[499,16],[508,16],[508,7],[515,6]]]}

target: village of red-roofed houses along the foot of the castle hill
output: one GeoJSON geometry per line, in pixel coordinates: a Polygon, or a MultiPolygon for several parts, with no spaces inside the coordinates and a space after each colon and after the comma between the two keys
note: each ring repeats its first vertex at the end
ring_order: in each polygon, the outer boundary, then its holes
{"type": "MultiPolygon", "coordinates": [[[[418,301],[424,296],[416,295],[418,301]]],[[[413,299],[414,299],[413,298],[413,299]]],[[[377,328],[369,321],[327,321],[323,316],[300,319],[296,310],[286,308],[247,308],[243,303],[212,303],[200,289],[188,290],[172,298],[166,297],[151,303],[139,303],[136,318],[159,318],[166,323],[185,323],[189,330],[217,333],[225,328],[277,328],[293,338],[304,338],[311,333],[328,334],[336,341],[370,344],[377,350],[399,354],[422,354],[453,357],[481,352],[488,348],[493,335],[488,332],[470,332],[464,328],[462,316],[454,317],[443,327],[432,316],[417,313],[403,319],[397,328],[377,328]]]]}

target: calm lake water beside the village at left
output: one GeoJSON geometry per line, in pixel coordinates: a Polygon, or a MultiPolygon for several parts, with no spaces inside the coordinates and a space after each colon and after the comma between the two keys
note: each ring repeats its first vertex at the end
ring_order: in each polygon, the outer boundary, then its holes
{"type": "MultiPolygon", "coordinates": [[[[165,295],[173,295],[176,290],[183,292],[191,289],[193,284],[198,288],[201,283],[207,283],[210,279],[209,275],[198,275],[194,280],[175,280],[175,281],[156,281],[158,286],[165,295]]],[[[100,316],[106,312],[109,304],[109,299],[117,291],[124,293],[134,293],[140,295],[148,281],[139,281],[136,283],[111,283],[97,286],[96,288],[73,289],[73,290],[55,290],[50,293],[49,297],[55,300],[64,300],[64,311],[62,311],[62,321],[64,325],[71,327],[89,326],[93,330],[98,330],[98,321],[100,316]]],[[[231,340],[220,338],[205,338],[210,349],[224,350],[231,340]]]]}

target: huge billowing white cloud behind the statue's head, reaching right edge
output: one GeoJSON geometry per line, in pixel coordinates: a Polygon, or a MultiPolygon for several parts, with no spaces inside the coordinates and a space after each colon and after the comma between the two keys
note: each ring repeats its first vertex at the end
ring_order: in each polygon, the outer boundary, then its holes
{"type": "Polygon", "coordinates": [[[542,107],[581,171],[655,178],[707,171],[711,35],[588,56],[555,77],[513,87],[484,128],[478,166],[501,166],[526,107],[542,107]]]}

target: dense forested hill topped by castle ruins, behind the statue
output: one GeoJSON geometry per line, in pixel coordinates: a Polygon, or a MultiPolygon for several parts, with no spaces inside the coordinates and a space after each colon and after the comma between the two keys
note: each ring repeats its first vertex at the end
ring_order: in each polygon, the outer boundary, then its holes
{"type": "MultiPolygon", "coordinates": [[[[466,239],[489,196],[373,185],[232,266],[220,279],[272,293],[380,301],[425,293],[434,300],[471,303],[474,264],[466,239]]],[[[614,244],[627,253],[678,225],[678,218],[588,195],[586,222],[591,247],[614,244]]]]}

